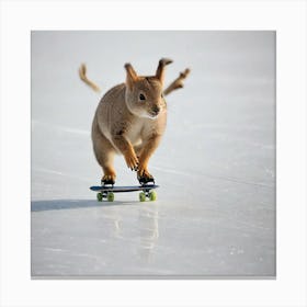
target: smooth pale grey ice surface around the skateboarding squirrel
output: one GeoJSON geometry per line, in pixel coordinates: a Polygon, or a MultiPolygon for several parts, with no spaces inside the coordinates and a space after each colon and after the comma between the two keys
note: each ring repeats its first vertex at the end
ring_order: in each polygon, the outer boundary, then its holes
{"type": "MultiPolygon", "coordinates": [[[[275,35],[273,32],[32,33],[32,275],[274,276],[275,35]],[[130,61],[167,83],[169,117],[149,170],[157,202],[137,193],[98,203],[90,127],[100,95],[130,61]]],[[[122,157],[118,185],[136,184],[122,157]]]]}

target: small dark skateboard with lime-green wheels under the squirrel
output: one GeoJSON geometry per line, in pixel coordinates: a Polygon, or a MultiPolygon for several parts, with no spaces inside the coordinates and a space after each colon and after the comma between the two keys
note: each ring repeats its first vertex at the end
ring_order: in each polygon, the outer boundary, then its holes
{"type": "Polygon", "coordinates": [[[156,184],[140,184],[130,186],[94,185],[91,186],[90,190],[98,192],[96,200],[99,202],[102,202],[103,200],[113,202],[115,193],[137,191],[140,191],[140,193],[138,194],[138,198],[140,202],[145,202],[147,198],[154,202],[157,200],[157,192],[155,190],[158,187],[159,185],[156,184]]]}

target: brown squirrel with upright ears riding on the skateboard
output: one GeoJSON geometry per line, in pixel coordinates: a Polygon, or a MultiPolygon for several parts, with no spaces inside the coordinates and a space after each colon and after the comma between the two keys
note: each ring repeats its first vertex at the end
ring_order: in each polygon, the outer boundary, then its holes
{"type": "MultiPolygon", "coordinates": [[[[92,122],[93,151],[102,167],[102,184],[114,184],[114,156],[122,154],[127,167],[137,171],[140,184],[155,182],[148,162],[166,130],[167,103],[164,94],[182,88],[190,69],[181,72],[163,91],[166,66],[172,60],[162,58],[155,76],[138,76],[130,64],[125,64],[126,81],[110,89],[101,99],[92,122]]],[[[86,66],[79,77],[93,90],[96,84],[86,76],[86,66]]]]}

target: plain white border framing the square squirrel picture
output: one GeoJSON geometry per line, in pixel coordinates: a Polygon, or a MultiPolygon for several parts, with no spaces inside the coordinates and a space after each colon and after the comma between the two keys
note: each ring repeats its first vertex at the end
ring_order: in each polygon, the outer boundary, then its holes
{"type": "Polygon", "coordinates": [[[1,306],[307,305],[305,1],[2,1],[0,18],[1,306]],[[277,31],[276,280],[31,280],[30,31],[123,29],[277,31]]]}

